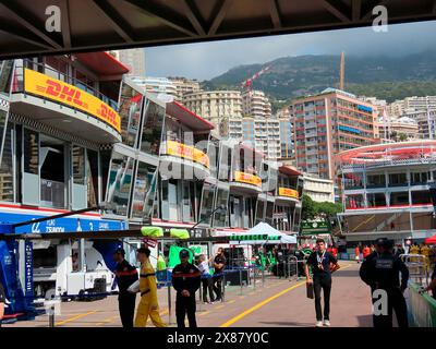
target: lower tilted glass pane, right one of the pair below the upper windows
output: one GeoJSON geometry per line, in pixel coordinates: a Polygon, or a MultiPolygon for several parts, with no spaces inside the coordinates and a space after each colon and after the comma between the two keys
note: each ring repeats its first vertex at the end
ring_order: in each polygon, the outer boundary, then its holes
{"type": "Polygon", "coordinates": [[[156,167],[138,163],[135,186],[133,190],[132,217],[148,219],[153,213],[157,185],[156,167]]]}

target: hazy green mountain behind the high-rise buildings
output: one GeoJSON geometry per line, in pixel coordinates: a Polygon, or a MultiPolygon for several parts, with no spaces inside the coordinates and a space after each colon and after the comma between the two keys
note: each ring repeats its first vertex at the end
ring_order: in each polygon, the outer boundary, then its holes
{"type": "MultiPolygon", "coordinates": [[[[371,49],[371,46],[368,46],[371,49]]],[[[284,100],[337,87],[340,56],[283,57],[264,64],[235,67],[203,83],[204,88],[240,88],[269,65],[253,88],[264,91],[278,107],[284,100]]],[[[404,57],[346,56],[346,91],[393,101],[407,96],[436,95],[436,51],[404,57]]]]}

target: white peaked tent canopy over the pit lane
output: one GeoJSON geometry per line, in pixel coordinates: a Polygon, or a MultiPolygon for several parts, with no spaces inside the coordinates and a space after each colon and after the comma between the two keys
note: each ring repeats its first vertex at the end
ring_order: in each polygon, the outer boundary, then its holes
{"type": "Polygon", "coordinates": [[[288,236],[262,221],[243,234],[230,236],[232,244],[296,243],[295,236],[288,236]]]}

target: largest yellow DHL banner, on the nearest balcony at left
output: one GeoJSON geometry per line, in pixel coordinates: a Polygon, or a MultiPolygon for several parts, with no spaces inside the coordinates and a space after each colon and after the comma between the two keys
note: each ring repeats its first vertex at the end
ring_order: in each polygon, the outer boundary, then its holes
{"type": "Polygon", "coordinates": [[[25,69],[24,89],[26,93],[43,96],[87,112],[121,132],[120,115],[106,103],[78,87],[25,69]]]}

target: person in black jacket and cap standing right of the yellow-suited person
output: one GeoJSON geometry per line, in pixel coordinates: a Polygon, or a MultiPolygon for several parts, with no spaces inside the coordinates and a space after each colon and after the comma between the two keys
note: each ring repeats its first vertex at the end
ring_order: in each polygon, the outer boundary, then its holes
{"type": "Polygon", "coordinates": [[[189,263],[190,253],[180,251],[180,264],[172,269],[172,286],[177,291],[175,317],[178,327],[185,327],[184,318],[187,314],[190,327],[197,327],[195,320],[195,292],[201,285],[201,273],[198,268],[189,263]]]}

